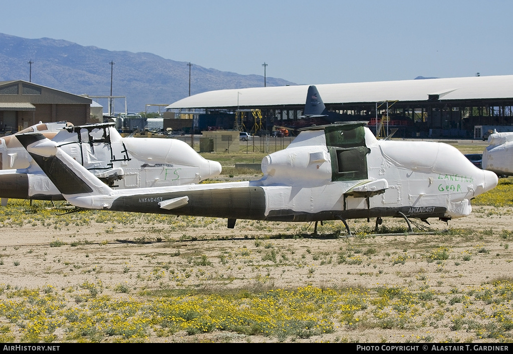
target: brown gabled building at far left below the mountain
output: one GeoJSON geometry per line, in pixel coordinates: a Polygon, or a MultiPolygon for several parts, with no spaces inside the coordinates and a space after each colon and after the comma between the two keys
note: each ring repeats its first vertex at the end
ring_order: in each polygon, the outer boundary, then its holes
{"type": "Polygon", "coordinates": [[[0,133],[17,132],[39,121],[86,124],[91,102],[23,80],[0,81],[0,133]]]}

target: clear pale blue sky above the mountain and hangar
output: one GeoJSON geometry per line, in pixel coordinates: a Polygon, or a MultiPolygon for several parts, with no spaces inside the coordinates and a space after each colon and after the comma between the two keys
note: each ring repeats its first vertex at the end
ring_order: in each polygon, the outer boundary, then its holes
{"type": "MultiPolygon", "coordinates": [[[[5,1],[0,32],[299,84],[511,74],[511,1],[5,1]]],[[[106,63],[108,65],[108,63],[106,63]]]]}

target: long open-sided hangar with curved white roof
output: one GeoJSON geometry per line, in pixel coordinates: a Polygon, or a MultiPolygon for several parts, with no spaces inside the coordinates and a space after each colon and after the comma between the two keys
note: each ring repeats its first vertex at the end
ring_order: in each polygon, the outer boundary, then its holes
{"type": "MultiPolygon", "coordinates": [[[[483,126],[511,126],[513,75],[316,85],[326,107],[340,121],[366,120],[397,127],[399,137],[481,135],[483,126]],[[481,130],[480,130],[481,129],[481,130]]],[[[166,108],[196,113],[198,128],[221,126],[258,130],[329,123],[302,117],[308,85],[227,89],[203,92],[166,108]],[[246,114],[245,114],[246,113],[246,114]],[[236,116],[244,116],[242,125],[236,116]]]]}

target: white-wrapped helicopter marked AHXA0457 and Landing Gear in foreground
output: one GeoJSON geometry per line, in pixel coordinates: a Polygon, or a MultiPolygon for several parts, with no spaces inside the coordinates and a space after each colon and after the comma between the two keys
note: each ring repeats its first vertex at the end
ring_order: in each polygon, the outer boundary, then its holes
{"type": "MultiPolygon", "coordinates": [[[[113,190],[41,134],[18,139],[78,208],[228,219],[318,221],[403,217],[449,220],[497,185],[455,147],[377,140],[364,122],[302,129],[266,156],[257,181],[113,190]]],[[[409,222],[408,222],[409,224],[409,222]]],[[[317,230],[317,229],[316,229],[317,230]]],[[[410,227],[411,230],[411,227],[410,227]]]]}

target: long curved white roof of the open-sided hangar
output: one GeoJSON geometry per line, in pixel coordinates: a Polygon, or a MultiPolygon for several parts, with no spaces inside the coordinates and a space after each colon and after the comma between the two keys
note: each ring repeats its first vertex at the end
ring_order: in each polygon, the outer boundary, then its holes
{"type": "MultiPolygon", "coordinates": [[[[309,85],[203,92],[166,108],[280,107],[305,104],[309,85]]],[[[315,85],[325,104],[513,98],[513,75],[315,85]]]]}

